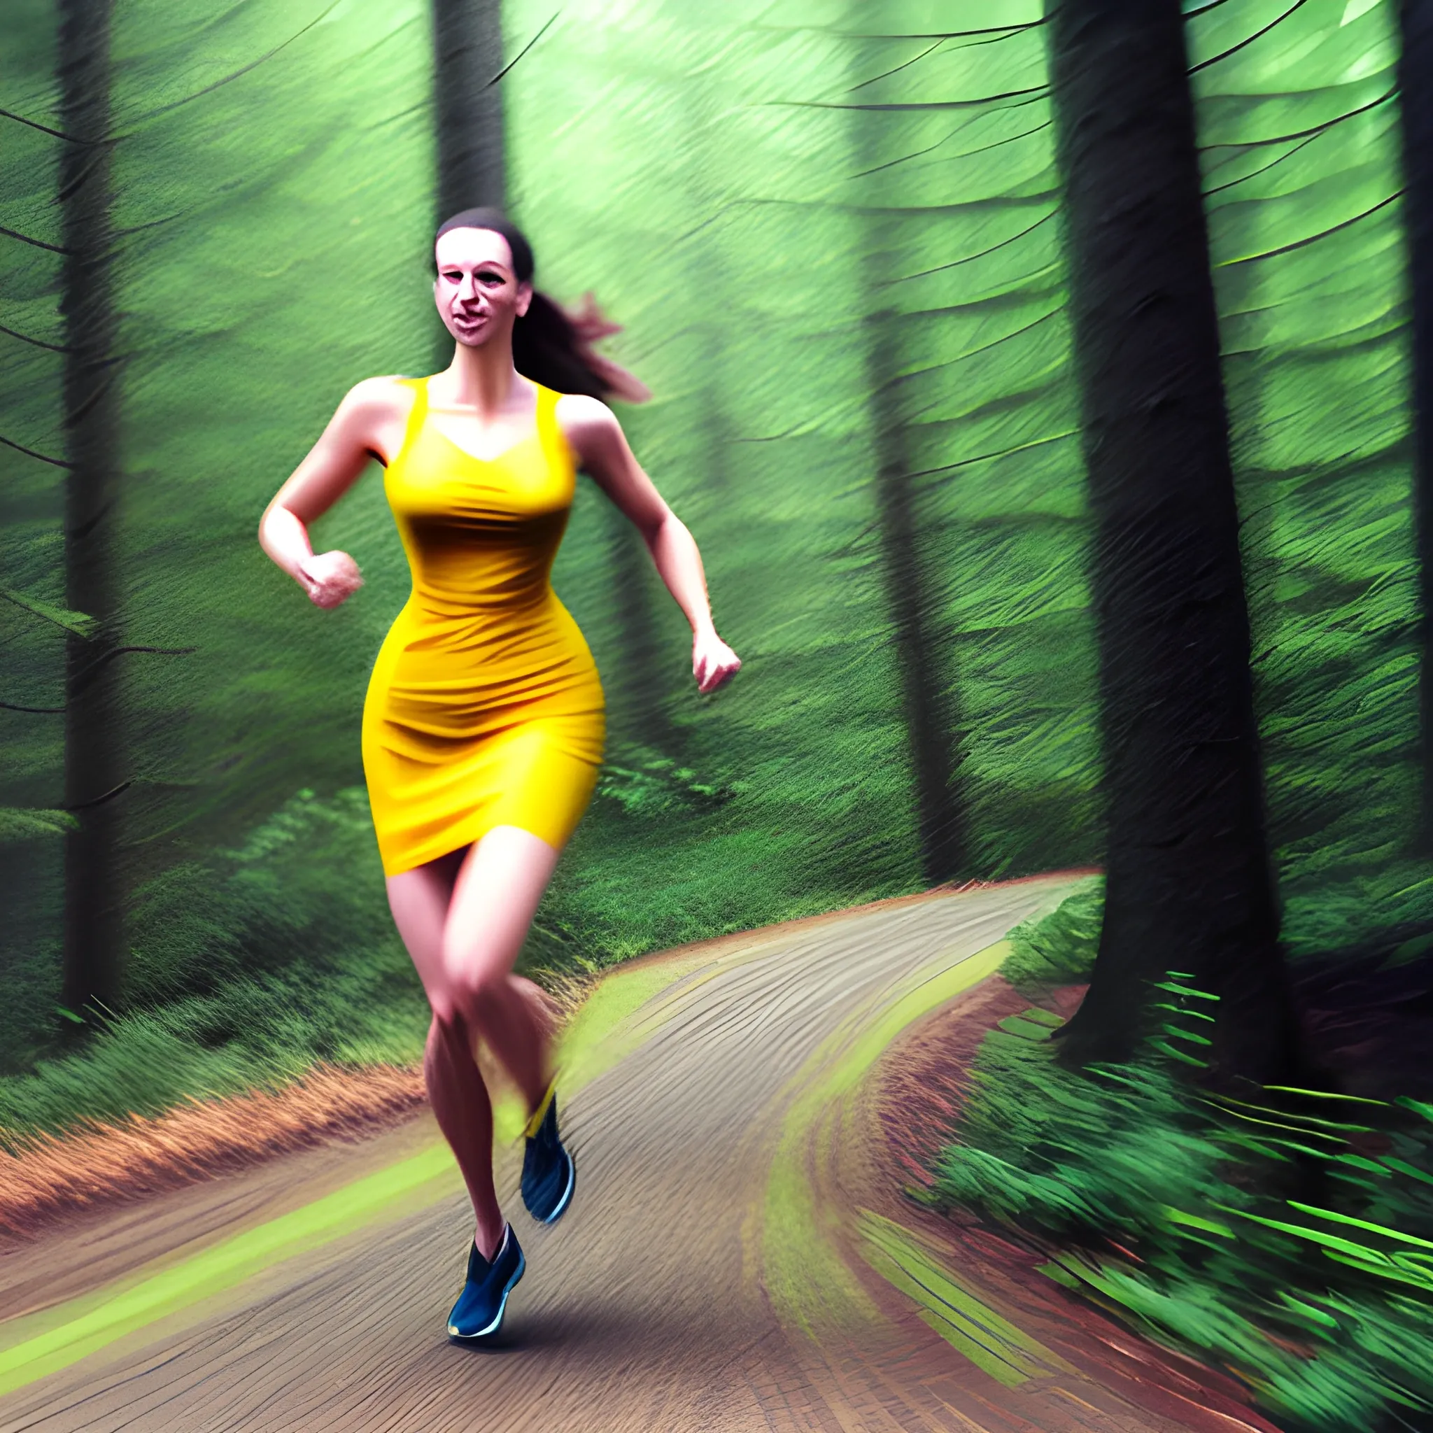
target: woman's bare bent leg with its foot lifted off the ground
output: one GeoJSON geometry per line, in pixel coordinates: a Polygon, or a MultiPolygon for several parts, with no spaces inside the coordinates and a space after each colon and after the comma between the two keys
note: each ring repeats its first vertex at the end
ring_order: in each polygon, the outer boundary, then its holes
{"type": "Polygon", "coordinates": [[[469,848],[443,930],[443,970],[470,1030],[503,1062],[532,1113],[552,1078],[552,1019],[512,973],[560,853],[514,825],[469,848]]]}

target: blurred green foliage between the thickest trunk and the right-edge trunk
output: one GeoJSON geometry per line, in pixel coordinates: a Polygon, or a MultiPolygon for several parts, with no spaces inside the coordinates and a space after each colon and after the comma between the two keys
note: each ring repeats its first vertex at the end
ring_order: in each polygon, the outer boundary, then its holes
{"type": "Polygon", "coordinates": [[[1270,828],[1294,956],[1433,921],[1397,6],[1189,17],[1270,828]],[[1277,23],[1270,23],[1277,21],[1277,23]]]}

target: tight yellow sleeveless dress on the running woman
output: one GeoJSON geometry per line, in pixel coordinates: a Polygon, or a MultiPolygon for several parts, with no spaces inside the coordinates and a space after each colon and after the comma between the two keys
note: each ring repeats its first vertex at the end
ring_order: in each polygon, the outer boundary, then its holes
{"type": "Polygon", "coordinates": [[[385,876],[516,825],[552,845],[572,835],[596,785],[602,684],[552,590],[576,489],[557,398],[496,459],[474,457],[414,390],[384,476],[413,593],[374,662],[363,762],[385,876]]]}

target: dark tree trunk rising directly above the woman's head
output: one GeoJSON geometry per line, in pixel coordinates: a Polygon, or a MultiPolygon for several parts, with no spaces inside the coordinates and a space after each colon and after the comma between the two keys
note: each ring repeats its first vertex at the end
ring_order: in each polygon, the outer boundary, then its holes
{"type": "Polygon", "coordinates": [[[433,0],[433,97],[438,219],[480,205],[500,209],[503,7],[499,0],[433,0]]]}

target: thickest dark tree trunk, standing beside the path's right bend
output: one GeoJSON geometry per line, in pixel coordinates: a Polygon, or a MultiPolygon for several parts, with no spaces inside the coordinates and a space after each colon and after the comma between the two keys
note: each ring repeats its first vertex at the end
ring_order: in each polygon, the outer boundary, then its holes
{"type": "Polygon", "coordinates": [[[1238,513],[1179,0],[1049,13],[1106,770],[1105,923],[1065,1058],[1129,1056],[1165,972],[1209,1078],[1287,1078],[1238,513]]]}

